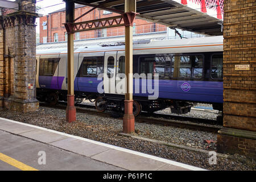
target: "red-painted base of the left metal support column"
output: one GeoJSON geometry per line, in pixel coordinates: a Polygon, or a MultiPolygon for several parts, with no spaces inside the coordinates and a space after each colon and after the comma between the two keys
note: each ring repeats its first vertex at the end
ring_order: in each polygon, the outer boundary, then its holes
{"type": "Polygon", "coordinates": [[[71,123],[76,121],[76,107],[75,107],[75,96],[68,95],[68,106],[66,109],[66,121],[71,123]]]}

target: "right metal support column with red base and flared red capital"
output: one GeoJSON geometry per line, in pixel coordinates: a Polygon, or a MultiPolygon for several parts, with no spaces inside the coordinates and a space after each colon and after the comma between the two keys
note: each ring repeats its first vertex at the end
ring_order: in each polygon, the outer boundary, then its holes
{"type": "Polygon", "coordinates": [[[123,115],[123,133],[134,132],[133,115],[133,20],[136,15],[136,0],[125,0],[125,114],[123,115]]]}

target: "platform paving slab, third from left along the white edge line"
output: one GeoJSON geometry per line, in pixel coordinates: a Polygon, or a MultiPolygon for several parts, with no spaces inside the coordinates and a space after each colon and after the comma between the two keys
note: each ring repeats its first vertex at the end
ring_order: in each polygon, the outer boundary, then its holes
{"type": "Polygon", "coordinates": [[[110,148],[100,146],[98,144],[86,142],[83,140],[68,138],[64,140],[59,140],[57,142],[50,143],[52,146],[63,148],[68,151],[75,152],[76,154],[92,156],[100,154],[101,152],[107,151],[110,148]]]}

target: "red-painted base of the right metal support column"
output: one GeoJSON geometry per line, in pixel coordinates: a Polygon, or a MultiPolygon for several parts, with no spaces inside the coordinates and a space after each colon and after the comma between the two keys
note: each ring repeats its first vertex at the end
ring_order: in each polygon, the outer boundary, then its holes
{"type": "Polygon", "coordinates": [[[134,133],[135,118],[133,115],[133,100],[125,100],[125,114],[123,115],[123,133],[134,133]]]}

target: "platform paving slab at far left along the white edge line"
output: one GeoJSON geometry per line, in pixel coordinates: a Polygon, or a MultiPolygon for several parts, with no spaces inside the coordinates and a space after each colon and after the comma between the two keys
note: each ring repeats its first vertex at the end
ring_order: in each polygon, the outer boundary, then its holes
{"type": "Polygon", "coordinates": [[[8,131],[14,134],[21,134],[21,133],[36,130],[36,129],[30,126],[19,125],[17,123],[5,122],[0,124],[0,130],[8,131]]]}

